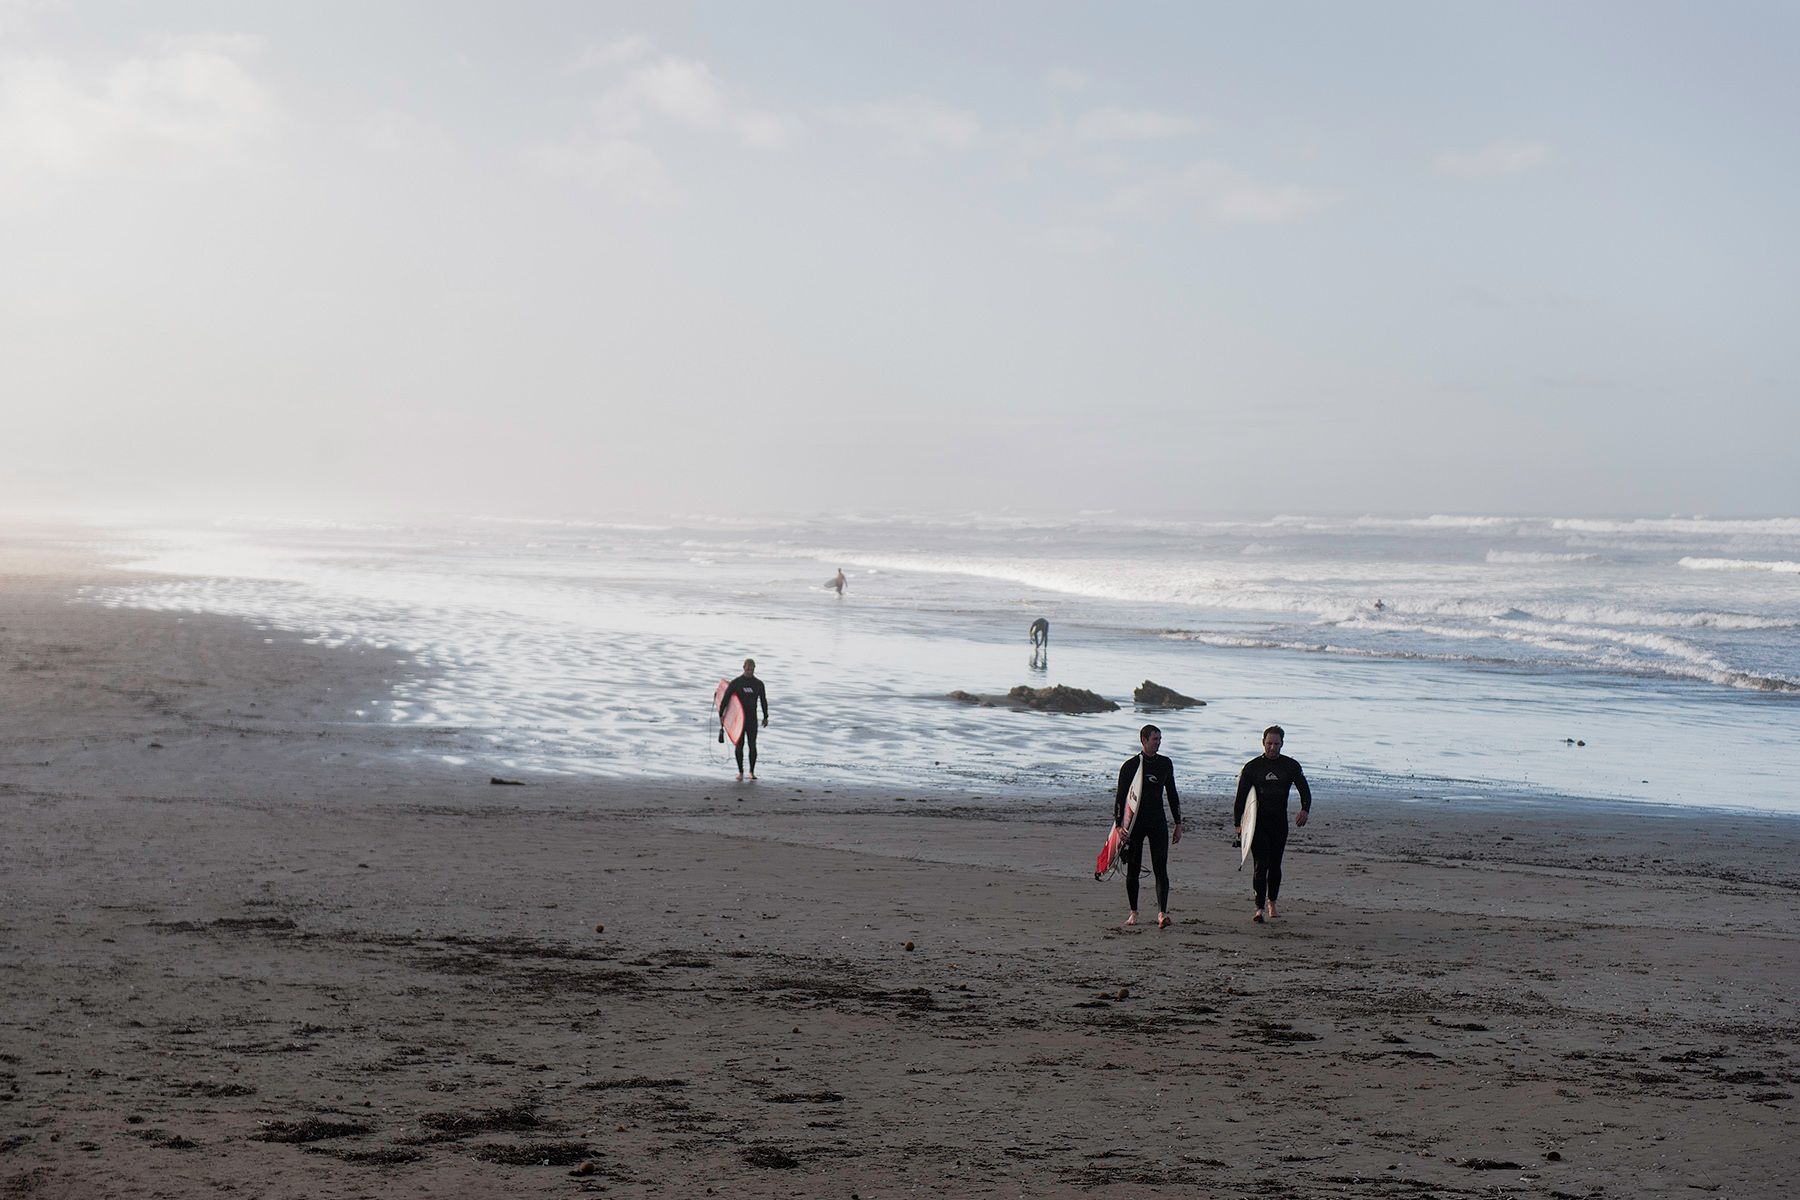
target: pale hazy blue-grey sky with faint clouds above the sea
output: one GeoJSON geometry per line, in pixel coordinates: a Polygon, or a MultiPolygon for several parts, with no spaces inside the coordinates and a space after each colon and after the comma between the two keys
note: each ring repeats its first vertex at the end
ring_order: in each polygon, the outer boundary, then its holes
{"type": "Polygon", "coordinates": [[[0,0],[0,509],[1796,513],[1791,4],[0,0]]]}

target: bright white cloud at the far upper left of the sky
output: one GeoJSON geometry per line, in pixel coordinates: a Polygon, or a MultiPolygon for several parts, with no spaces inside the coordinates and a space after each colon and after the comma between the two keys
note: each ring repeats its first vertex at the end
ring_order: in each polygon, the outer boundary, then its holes
{"type": "Polygon", "coordinates": [[[241,36],[164,38],[157,52],[81,72],[54,58],[0,63],[0,160],[74,173],[229,149],[268,128],[274,99],[239,61],[241,36]]]}

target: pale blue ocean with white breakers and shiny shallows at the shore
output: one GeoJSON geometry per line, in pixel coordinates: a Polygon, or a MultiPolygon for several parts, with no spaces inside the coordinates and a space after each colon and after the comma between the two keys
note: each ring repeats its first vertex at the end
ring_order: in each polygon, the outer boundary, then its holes
{"type": "Polygon", "coordinates": [[[1800,811],[1800,518],[445,518],[95,542],[164,578],[85,603],[229,613],[421,667],[344,720],[468,730],[486,747],[472,772],[729,781],[713,689],[754,657],[760,774],[783,784],[1102,795],[1154,720],[1202,795],[1280,723],[1321,802],[1336,786],[1800,811]],[[1141,712],[1145,680],[1206,707],[1141,712]],[[1121,707],[947,698],[1019,684],[1121,707]]]}

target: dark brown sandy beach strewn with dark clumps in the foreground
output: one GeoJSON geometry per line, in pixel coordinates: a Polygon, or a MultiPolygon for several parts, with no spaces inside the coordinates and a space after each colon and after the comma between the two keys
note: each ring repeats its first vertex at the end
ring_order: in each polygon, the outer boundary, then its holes
{"type": "Polygon", "coordinates": [[[1193,795],[1123,930],[1105,797],[499,788],[349,720],[400,657],[72,604],[58,540],[0,560],[0,1195],[1795,1193],[1793,819],[1321,790],[1260,927],[1193,795]]]}

